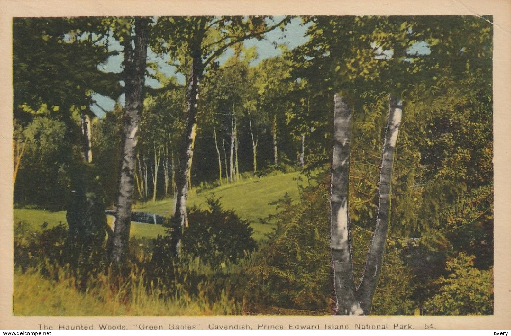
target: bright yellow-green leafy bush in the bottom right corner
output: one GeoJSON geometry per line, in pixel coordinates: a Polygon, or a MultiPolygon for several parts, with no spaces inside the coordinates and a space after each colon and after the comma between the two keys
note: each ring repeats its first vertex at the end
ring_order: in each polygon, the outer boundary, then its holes
{"type": "Polygon", "coordinates": [[[450,273],[436,281],[440,288],[424,305],[431,315],[492,315],[493,267],[474,267],[474,256],[460,253],[446,262],[450,273]]]}

